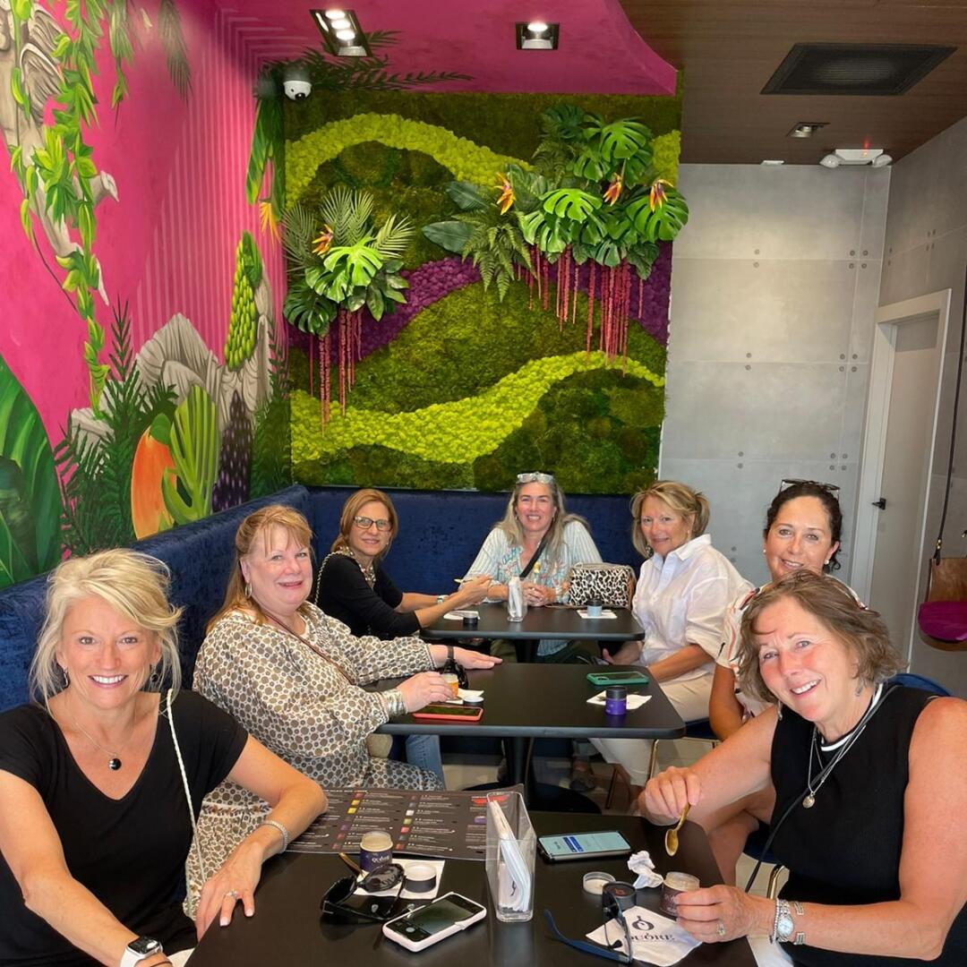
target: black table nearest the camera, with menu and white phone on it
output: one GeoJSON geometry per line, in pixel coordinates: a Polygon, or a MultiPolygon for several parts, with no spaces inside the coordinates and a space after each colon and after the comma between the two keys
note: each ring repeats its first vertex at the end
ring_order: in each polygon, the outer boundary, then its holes
{"type": "MultiPolygon", "coordinates": [[[[686,823],[679,835],[674,860],[662,848],[664,830],[638,817],[532,812],[538,835],[617,830],[633,850],[647,849],[659,872],[689,872],[702,886],[721,882],[706,835],[686,823]]],[[[448,860],[440,894],[455,891],[483,903],[487,916],[423,952],[411,953],[383,936],[378,924],[345,925],[322,921],[319,901],[326,889],[345,875],[345,866],[333,854],[285,854],[265,864],[255,894],[255,916],[245,917],[236,907],[232,922],[211,927],[191,957],[191,967],[305,967],[307,964],[365,963],[367,967],[405,967],[419,960],[420,967],[452,967],[467,963],[506,967],[590,967],[601,961],[555,940],[544,919],[549,910],[568,937],[584,935],[601,925],[601,897],[585,893],[582,878],[602,870],[616,879],[633,879],[627,859],[613,857],[548,864],[535,861],[534,917],[527,923],[501,923],[494,916],[484,864],[471,860],[448,860]]],[[[639,905],[658,910],[659,890],[637,892],[639,905]]],[[[681,961],[683,967],[713,964],[716,967],[754,967],[755,959],[745,939],[703,944],[681,961]]]]}

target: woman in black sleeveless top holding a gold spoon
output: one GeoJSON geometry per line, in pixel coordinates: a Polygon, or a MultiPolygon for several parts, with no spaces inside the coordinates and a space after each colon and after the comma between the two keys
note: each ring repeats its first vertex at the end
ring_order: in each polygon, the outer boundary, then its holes
{"type": "Polygon", "coordinates": [[[789,880],[776,901],[725,886],[681,894],[679,923],[709,943],[768,936],[807,967],[963,967],[967,703],[885,684],[900,661],[879,615],[820,574],[758,595],[741,647],[743,689],[777,708],[693,769],[653,779],[640,805],[666,824],[689,802],[711,825],[771,783],[789,880]]]}

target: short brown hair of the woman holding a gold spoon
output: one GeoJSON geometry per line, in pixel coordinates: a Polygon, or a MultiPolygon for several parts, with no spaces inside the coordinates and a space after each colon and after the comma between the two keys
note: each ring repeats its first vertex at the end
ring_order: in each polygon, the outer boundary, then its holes
{"type": "Polygon", "coordinates": [[[857,678],[864,684],[885,682],[901,671],[904,662],[890,642],[890,633],[879,613],[858,601],[853,592],[828,574],[793,571],[767,584],[746,606],[739,643],[739,684],[749,695],[775,701],[759,670],[759,644],[755,622],[759,615],[783,598],[792,598],[818,619],[846,646],[856,660],[857,678]]]}

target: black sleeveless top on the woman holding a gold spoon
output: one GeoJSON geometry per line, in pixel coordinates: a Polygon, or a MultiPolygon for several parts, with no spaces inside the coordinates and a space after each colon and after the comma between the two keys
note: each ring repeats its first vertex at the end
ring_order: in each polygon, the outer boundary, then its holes
{"type": "MultiPolygon", "coordinates": [[[[774,821],[794,801],[798,803],[779,826],[772,846],[777,860],[789,868],[782,896],[834,905],[899,899],[910,741],[917,719],[933,697],[923,689],[885,689],[863,734],[815,793],[815,804],[809,809],[799,804],[806,795],[813,726],[783,710],[772,750],[774,821]]],[[[834,756],[835,749],[823,752],[821,761],[825,765],[834,756]]],[[[818,771],[814,762],[813,777],[818,771]]],[[[808,938],[806,928],[806,945],[783,945],[793,962],[802,967],[910,967],[922,962],[820,950],[809,947],[808,938]]],[[[942,955],[930,963],[935,967],[967,965],[967,907],[953,922],[942,955]]]]}

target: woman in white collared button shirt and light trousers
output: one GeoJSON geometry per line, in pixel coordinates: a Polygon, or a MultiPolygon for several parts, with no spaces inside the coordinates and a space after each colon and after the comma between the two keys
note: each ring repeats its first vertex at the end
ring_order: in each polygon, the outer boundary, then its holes
{"type": "MultiPolygon", "coordinates": [[[[714,659],[730,601],[751,588],[705,533],[709,502],[686,484],[657,481],[631,501],[634,546],[646,557],[631,610],[647,632],[627,641],[612,664],[645,665],[686,721],[707,718],[714,659]],[[652,553],[654,552],[654,553],[652,553]]],[[[632,786],[648,777],[651,744],[642,739],[594,739],[608,762],[628,772],[632,786]]]]}

